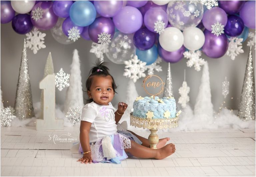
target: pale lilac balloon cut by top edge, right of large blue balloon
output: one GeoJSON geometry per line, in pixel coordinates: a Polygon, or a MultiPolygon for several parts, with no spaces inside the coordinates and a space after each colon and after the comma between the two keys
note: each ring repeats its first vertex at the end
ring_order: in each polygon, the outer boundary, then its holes
{"type": "Polygon", "coordinates": [[[96,11],[103,17],[115,16],[123,7],[123,1],[94,1],[96,11]]]}

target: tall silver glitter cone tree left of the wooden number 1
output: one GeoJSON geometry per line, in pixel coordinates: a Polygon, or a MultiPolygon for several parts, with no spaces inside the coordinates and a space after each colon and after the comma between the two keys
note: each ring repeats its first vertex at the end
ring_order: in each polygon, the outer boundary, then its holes
{"type": "Polygon", "coordinates": [[[32,102],[30,77],[28,72],[28,58],[25,39],[22,50],[19,79],[14,103],[14,114],[21,120],[35,116],[32,102]]]}

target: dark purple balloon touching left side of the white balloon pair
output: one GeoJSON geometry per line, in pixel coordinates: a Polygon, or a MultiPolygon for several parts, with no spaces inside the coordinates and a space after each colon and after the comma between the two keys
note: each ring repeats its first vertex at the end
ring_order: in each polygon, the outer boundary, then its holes
{"type": "Polygon", "coordinates": [[[141,28],[133,36],[133,44],[139,50],[148,50],[155,44],[155,33],[147,28],[141,28]]]}

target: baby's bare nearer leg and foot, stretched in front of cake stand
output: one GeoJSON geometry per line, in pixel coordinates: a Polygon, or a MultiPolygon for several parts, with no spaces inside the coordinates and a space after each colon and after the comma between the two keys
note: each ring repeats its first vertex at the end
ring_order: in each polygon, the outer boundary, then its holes
{"type": "Polygon", "coordinates": [[[175,145],[171,143],[160,149],[150,149],[131,141],[131,148],[125,149],[125,152],[129,152],[133,156],[139,158],[164,159],[175,152],[175,145]]]}

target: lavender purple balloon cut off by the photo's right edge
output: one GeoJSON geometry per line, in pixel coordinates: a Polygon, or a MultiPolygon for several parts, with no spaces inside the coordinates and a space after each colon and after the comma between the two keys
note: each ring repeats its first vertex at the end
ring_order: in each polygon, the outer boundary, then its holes
{"type": "Polygon", "coordinates": [[[247,1],[240,10],[239,15],[245,26],[255,29],[255,1],[247,1]]]}

